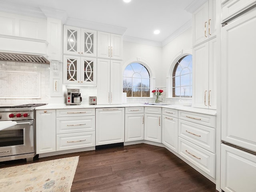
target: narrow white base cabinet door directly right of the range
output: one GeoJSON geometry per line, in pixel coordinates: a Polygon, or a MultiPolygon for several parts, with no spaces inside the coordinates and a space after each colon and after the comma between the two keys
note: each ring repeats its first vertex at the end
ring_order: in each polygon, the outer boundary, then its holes
{"type": "Polygon", "coordinates": [[[36,110],[36,154],[56,151],[56,110],[36,110]]]}

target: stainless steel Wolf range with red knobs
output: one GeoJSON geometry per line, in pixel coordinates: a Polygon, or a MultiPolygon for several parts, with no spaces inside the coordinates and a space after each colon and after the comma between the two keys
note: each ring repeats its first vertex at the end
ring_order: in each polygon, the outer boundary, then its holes
{"type": "Polygon", "coordinates": [[[17,124],[0,130],[0,162],[35,156],[35,107],[45,104],[0,106],[0,121],[16,121],[17,124]]]}

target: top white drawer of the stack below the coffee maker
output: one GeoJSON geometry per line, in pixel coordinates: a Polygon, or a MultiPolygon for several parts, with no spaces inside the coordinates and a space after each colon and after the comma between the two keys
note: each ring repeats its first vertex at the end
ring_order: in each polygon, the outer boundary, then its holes
{"type": "Polygon", "coordinates": [[[95,109],[57,109],[56,117],[95,116],[95,109]]]}

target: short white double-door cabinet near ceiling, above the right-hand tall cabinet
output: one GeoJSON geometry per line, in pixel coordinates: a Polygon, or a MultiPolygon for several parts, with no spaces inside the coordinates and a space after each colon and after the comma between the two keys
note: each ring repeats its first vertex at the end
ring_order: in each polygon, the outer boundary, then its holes
{"type": "Polygon", "coordinates": [[[214,36],[216,36],[216,0],[208,0],[193,13],[193,46],[214,36]]]}

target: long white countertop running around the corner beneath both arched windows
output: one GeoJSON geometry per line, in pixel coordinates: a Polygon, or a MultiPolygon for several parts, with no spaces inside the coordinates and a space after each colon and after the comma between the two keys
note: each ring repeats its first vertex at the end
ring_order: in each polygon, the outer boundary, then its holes
{"type": "Polygon", "coordinates": [[[66,104],[47,104],[44,106],[36,107],[36,110],[51,110],[51,109],[81,109],[81,108],[116,108],[116,107],[162,107],[176,110],[183,110],[188,112],[195,112],[201,114],[208,114],[216,116],[216,110],[212,109],[203,109],[203,108],[195,108],[191,106],[183,106],[183,105],[149,105],[149,104],[116,104],[116,105],[66,105],[66,104]]]}

